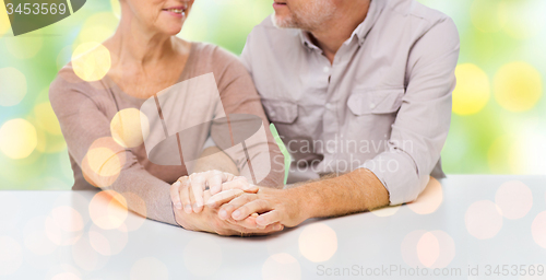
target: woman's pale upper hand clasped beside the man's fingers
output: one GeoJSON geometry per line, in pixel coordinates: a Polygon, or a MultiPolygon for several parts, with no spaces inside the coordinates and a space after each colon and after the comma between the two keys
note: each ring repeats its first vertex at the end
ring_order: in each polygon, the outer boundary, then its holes
{"type": "Polygon", "coordinates": [[[170,187],[170,198],[175,208],[180,210],[183,206],[186,213],[199,213],[205,203],[217,205],[219,201],[237,197],[242,191],[256,192],[258,187],[241,176],[207,171],[178,178],[170,187]],[[211,202],[207,202],[211,198],[211,202]]]}

